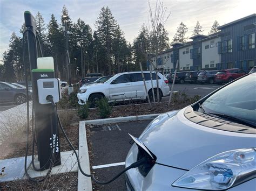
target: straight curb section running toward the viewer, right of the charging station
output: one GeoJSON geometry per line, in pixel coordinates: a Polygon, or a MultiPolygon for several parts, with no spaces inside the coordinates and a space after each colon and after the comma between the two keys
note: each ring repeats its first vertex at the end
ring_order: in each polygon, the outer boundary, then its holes
{"type": "MultiPolygon", "coordinates": [[[[79,161],[83,171],[91,174],[89,152],[86,138],[85,122],[79,122],[79,161]]],[[[90,177],[84,176],[78,169],[77,190],[92,190],[92,181],[90,177]]]]}

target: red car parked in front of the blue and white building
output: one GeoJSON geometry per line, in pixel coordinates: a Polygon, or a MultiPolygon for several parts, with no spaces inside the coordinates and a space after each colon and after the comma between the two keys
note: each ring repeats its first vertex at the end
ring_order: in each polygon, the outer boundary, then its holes
{"type": "Polygon", "coordinates": [[[219,70],[215,74],[215,82],[218,84],[231,82],[245,74],[246,72],[244,70],[238,68],[219,70]]]}

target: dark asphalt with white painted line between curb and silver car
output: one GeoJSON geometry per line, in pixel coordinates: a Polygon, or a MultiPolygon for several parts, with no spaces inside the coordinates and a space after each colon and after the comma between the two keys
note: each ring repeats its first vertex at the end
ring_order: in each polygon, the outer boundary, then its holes
{"type": "MultiPolygon", "coordinates": [[[[110,180],[124,169],[126,155],[131,147],[130,136],[139,137],[150,121],[124,122],[100,125],[91,129],[92,168],[100,181],[110,180]]],[[[124,175],[109,185],[97,185],[100,190],[126,190],[124,175]]]]}

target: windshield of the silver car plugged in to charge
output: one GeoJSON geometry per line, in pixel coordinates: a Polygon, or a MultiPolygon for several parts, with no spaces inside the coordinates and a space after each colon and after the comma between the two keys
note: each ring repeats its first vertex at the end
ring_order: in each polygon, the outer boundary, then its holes
{"type": "Polygon", "coordinates": [[[201,106],[207,113],[223,114],[256,123],[256,74],[234,81],[208,97],[201,106]]]}

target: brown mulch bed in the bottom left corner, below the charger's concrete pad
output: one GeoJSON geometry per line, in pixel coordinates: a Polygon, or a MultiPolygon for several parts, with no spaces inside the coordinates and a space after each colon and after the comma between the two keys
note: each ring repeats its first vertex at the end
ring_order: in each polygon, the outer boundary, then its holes
{"type": "Polygon", "coordinates": [[[50,175],[43,182],[28,179],[0,183],[0,190],[77,190],[78,173],[50,175]]]}

